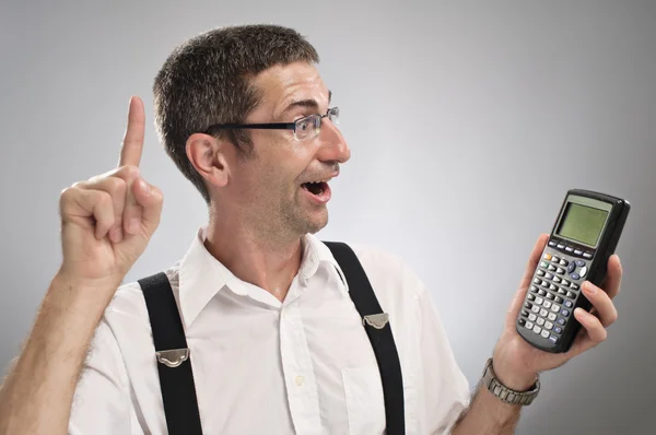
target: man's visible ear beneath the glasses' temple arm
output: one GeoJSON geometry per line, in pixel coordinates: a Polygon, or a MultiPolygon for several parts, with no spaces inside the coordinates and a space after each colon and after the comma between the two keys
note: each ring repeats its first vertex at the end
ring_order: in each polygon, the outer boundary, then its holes
{"type": "Polygon", "coordinates": [[[234,164],[234,146],[212,136],[194,133],[187,139],[187,157],[206,179],[216,187],[224,187],[234,164]]]}

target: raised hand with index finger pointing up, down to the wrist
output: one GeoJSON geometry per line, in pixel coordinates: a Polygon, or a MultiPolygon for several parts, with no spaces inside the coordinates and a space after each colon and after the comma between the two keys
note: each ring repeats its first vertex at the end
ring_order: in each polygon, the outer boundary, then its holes
{"type": "Polygon", "coordinates": [[[116,290],[160,224],[162,192],[139,172],[144,126],[143,103],[132,97],[118,167],[61,193],[59,273],[70,281],[116,290]]]}

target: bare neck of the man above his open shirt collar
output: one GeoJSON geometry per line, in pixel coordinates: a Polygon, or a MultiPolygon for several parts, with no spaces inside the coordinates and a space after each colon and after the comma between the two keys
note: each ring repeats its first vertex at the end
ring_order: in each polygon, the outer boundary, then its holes
{"type": "Polygon", "coordinates": [[[235,277],[282,302],[301,267],[302,237],[271,233],[267,236],[244,225],[244,220],[231,222],[211,213],[204,246],[235,277]]]}

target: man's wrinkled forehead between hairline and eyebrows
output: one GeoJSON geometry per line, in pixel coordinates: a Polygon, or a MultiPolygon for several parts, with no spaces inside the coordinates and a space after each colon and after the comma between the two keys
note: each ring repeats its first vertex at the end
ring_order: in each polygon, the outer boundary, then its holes
{"type": "Polygon", "coordinates": [[[305,98],[315,99],[319,105],[328,103],[328,87],[311,63],[276,64],[257,74],[251,83],[261,93],[260,107],[274,110],[305,98]]]}

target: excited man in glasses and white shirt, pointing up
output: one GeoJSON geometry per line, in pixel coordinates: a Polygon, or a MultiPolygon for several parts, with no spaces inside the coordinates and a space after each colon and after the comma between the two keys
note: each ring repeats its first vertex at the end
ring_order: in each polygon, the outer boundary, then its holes
{"type": "MultiPolygon", "coordinates": [[[[215,30],[177,48],[154,84],[164,145],[209,207],[209,223],[166,271],[190,349],[207,434],[379,434],[384,392],[343,271],[313,234],[328,181],[350,157],[315,49],[292,30],[215,30]]],[[[119,287],[160,222],[162,193],[139,173],[144,111],[130,101],[118,167],[61,195],[61,268],[0,392],[0,434],[166,433],[149,308],[119,287]],[[118,289],[118,290],[117,290],[118,289]]],[[[538,238],[493,352],[515,391],[606,339],[622,271],[586,283],[594,314],[566,354],[515,331],[538,238]]],[[[353,247],[394,329],[408,434],[513,433],[522,405],[485,387],[469,398],[421,281],[391,255],[353,247]]]]}

